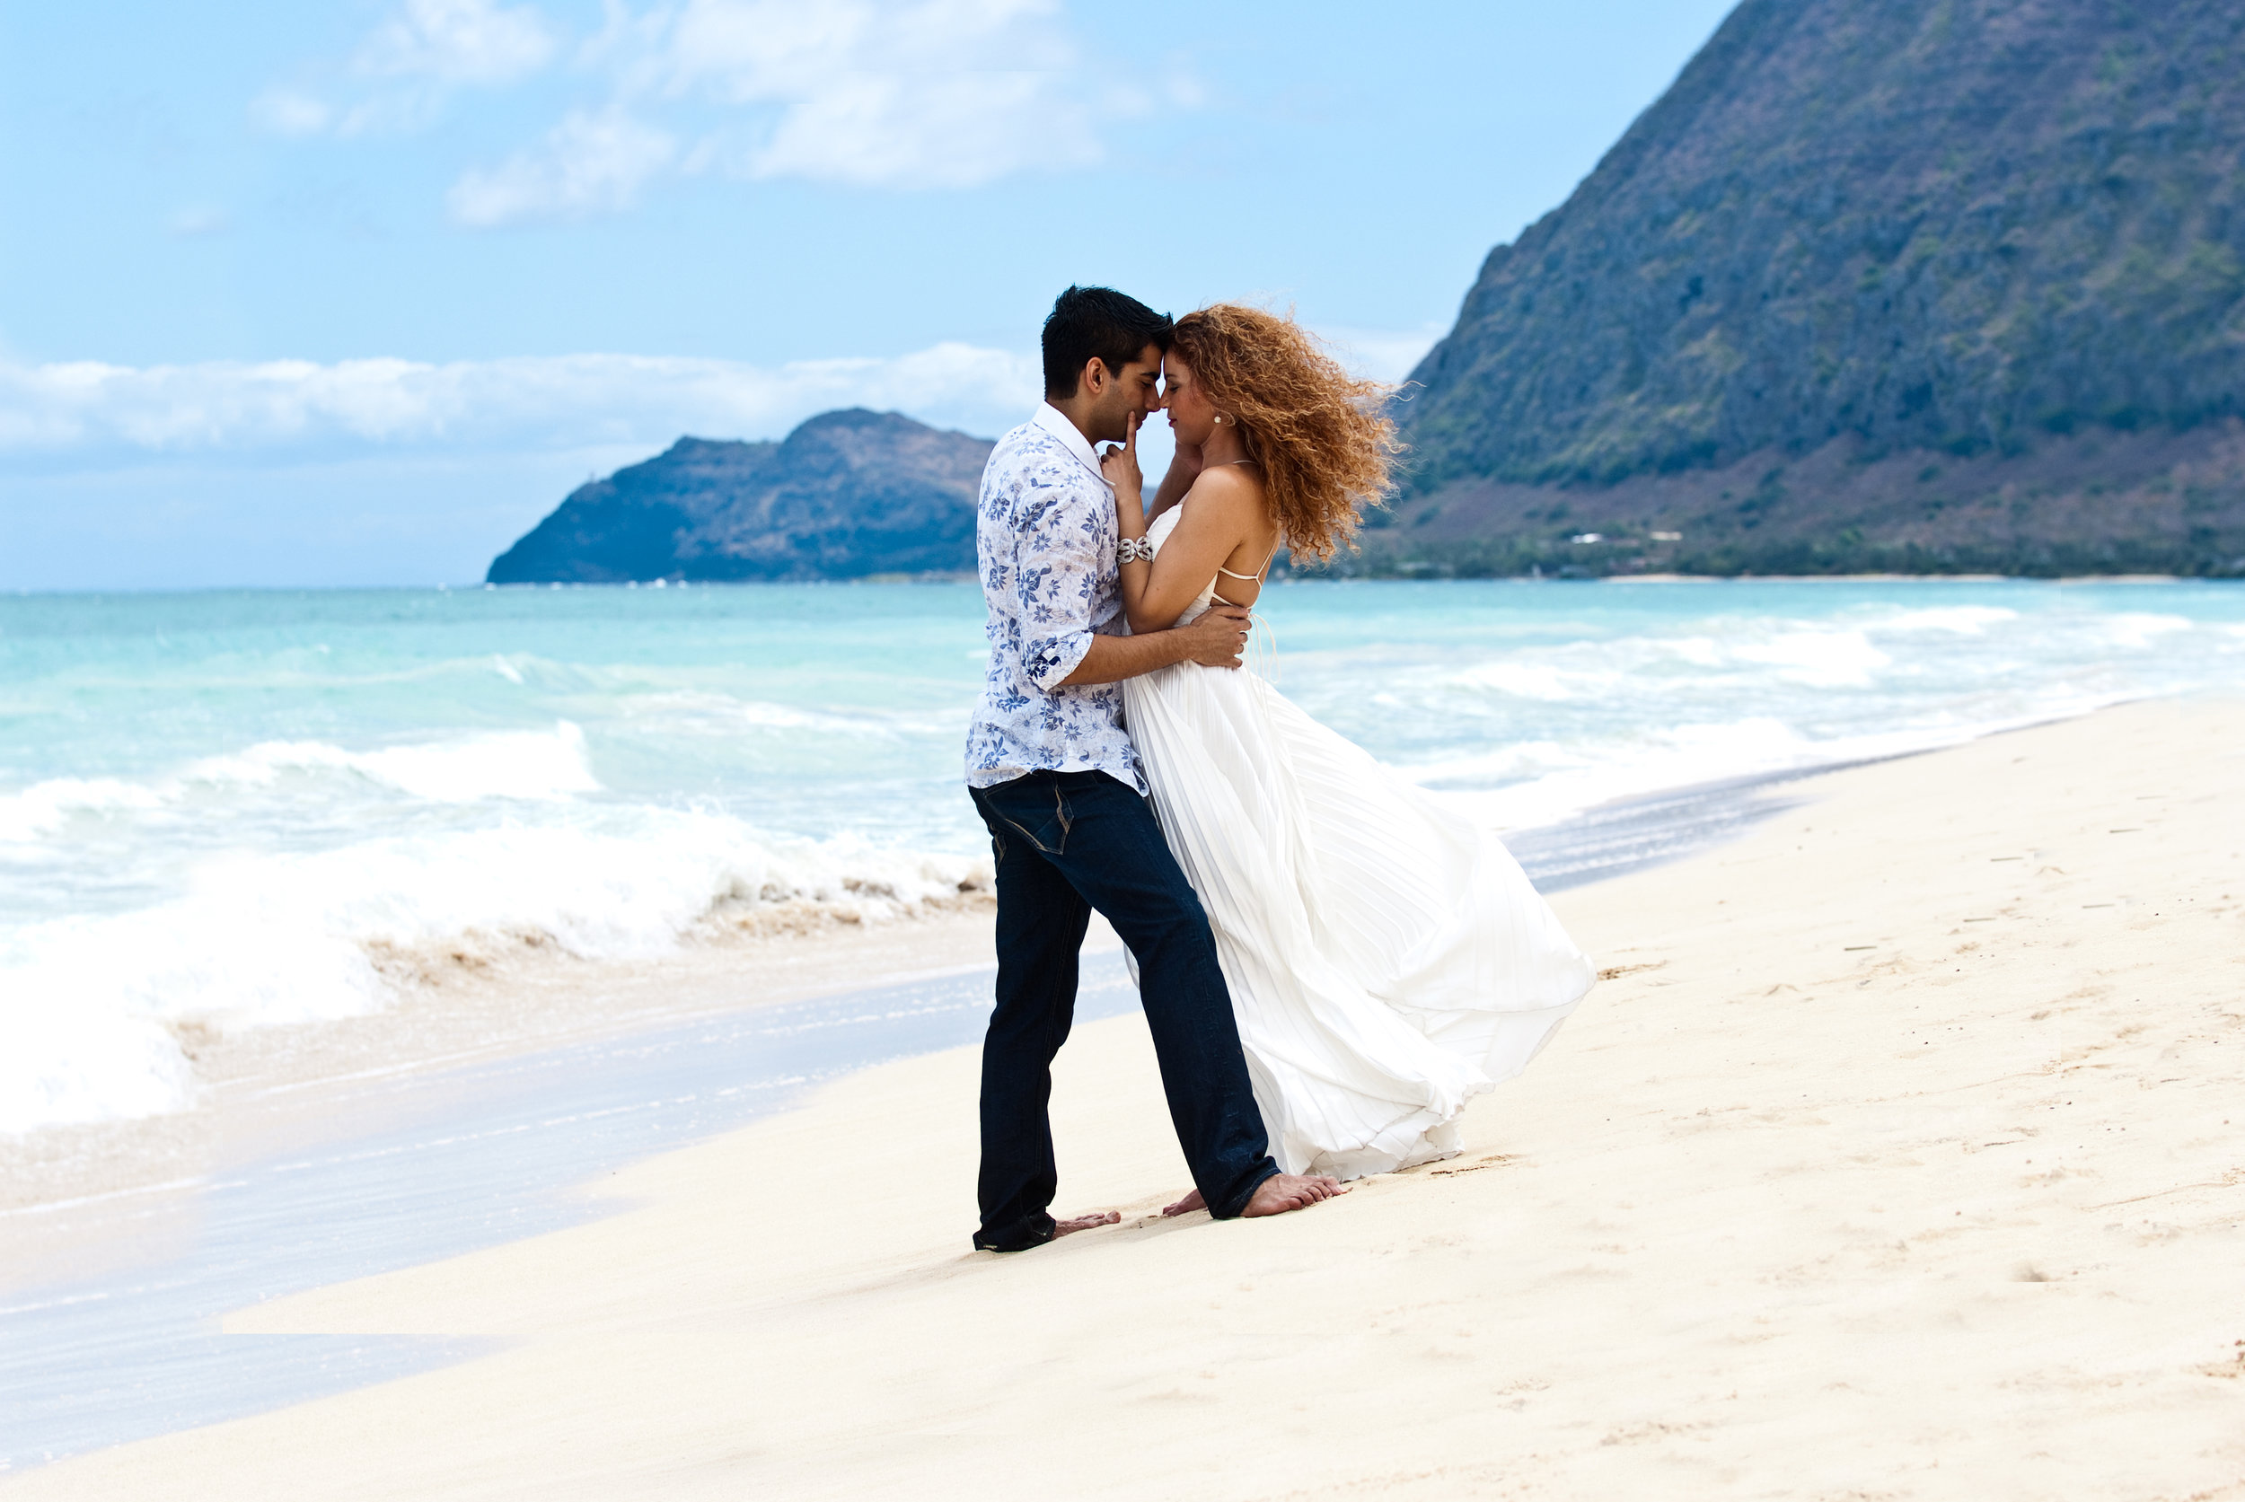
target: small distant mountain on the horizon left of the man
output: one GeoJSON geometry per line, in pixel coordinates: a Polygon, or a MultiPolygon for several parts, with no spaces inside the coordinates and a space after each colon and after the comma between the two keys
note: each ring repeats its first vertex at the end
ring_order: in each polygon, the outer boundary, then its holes
{"type": "Polygon", "coordinates": [[[974,568],[988,438],[864,409],[779,442],[680,438],[579,485],[492,561],[492,584],[862,579],[974,568]]]}

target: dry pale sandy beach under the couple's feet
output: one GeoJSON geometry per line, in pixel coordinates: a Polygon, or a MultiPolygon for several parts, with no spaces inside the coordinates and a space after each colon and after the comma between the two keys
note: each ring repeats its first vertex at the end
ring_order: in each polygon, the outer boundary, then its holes
{"type": "Polygon", "coordinates": [[[1787,788],[1556,905],[1605,981],[1461,1158],[1257,1224],[1136,1015],[968,1253],[974,1051],[638,1163],[588,1224],[242,1309],[485,1356],[9,1498],[2245,1498],[2245,705],[1787,788]],[[2236,1123],[2236,1125],[2232,1125],[2236,1123]]]}

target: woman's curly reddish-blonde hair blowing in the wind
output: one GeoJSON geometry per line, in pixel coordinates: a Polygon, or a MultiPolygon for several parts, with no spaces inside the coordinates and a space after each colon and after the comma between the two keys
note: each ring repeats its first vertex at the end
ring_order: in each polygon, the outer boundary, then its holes
{"type": "Polygon", "coordinates": [[[1394,487],[1403,445],[1381,411],[1387,386],[1351,377],[1293,319],[1239,303],[1188,312],[1170,348],[1217,411],[1239,420],[1286,548],[1331,561],[1358,510],[1394,487]]]}

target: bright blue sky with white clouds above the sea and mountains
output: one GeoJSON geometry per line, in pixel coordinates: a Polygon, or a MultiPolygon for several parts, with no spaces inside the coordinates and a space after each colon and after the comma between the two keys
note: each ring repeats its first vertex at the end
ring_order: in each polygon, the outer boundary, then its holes
{"type": "Polygon", "coordinates": [[[997,436],[1071,281],[1396,379],[1726,9],[0,0],[0,588],[460,584],[680,433],[997,436]]]}

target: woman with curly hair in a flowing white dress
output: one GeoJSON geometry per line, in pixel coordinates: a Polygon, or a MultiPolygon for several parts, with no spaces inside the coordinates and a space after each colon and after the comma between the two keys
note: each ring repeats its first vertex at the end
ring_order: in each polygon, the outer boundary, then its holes
{"type": "MultiPolygon", "coordinates": [[[[1131,631],[1255,604],[1282,546],[1334,557],[1390,485],[1381,388],[1289,319],[1179,319],[1163,393],[1176,460],[1152,514],[1136,431],[1105,462],[1131,631]]],[[[1280,1167],[1358,1179],[1457,1154],[1466,1100],[1520,1073],[1592,983],[1520,864],[1255,674],[1129,678],[1125,718],[1215,927],[1280,1167]]]]}

